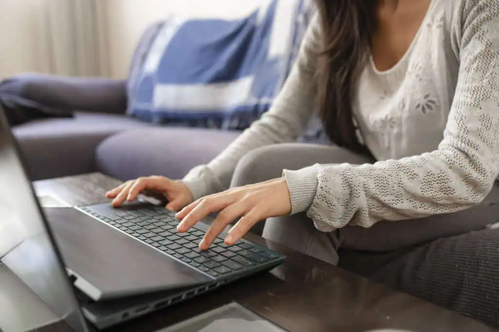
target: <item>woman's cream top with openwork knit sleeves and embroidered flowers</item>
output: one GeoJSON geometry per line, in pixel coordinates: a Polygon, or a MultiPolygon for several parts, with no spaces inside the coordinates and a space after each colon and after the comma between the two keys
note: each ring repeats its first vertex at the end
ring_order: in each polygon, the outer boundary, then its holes
{"type": "MultiPolygon", "coordinates": [[[[304,130],[319,33],[316,19],[272,109],[185,177],[196,198],[226,188],[250,150],[304,130]]],[[[499,173],[499,1],[432,0],[402,60],[385,72],[367,65],[354,115],[359,140],[380,162],[284,170],[292,213],[308,211],[319,230],[331,231],[481,202],[499,173]]]]}

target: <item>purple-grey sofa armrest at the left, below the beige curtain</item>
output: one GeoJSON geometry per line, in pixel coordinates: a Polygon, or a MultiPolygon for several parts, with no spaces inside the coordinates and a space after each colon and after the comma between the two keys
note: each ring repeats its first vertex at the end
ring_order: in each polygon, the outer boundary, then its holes
{"type": "Polygon", "coordinates": [[[22,74],[3,80],[0,92],[68,113],[85,111],[125,114],[126,85],[125,80],[22,74]]]}

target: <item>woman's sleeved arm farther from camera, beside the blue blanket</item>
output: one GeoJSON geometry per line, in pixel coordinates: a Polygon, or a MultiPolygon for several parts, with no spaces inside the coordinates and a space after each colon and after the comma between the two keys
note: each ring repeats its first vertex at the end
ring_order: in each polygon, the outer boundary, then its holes
{"type": "Polygon", "coordinates": [[[212,162],[195,167],[186,175],[184,182],[195,199],[227,189],[238,161],[251,150],[294,141],[303,132],[314,109],[318,23],[315,16],[293,69],[271,109],[212,162]]]}

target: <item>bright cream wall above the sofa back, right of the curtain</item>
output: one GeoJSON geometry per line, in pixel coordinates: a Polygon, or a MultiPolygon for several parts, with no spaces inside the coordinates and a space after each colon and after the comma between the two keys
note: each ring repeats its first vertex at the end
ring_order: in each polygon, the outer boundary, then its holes
{"type": "Polygon", "coordinates": [[[151,22],[169,13],[238,17],[249,13],[261,1],[264,0],[100,0],[101,66],[107,68],[104,74],[126,77],[142,32],[151,22]]]}

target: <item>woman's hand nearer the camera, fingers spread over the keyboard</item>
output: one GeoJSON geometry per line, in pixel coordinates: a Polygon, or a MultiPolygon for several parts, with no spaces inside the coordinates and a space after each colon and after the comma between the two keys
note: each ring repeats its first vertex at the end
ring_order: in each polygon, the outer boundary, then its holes
{"type": "Polygon", "coordinates": [[[227,245],[236,243],[258,221],[291,213],[291,198],[286,180],[283,177],[277,178],[198,199],[177,213],[176,217],[182,220],[177,230],[186,232],[210,213],[219,211],[199,245],[201,250],[208,249],[227,225],[238,218],[239,221],[225,239],[227,245]]]}

